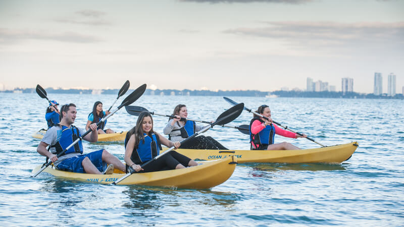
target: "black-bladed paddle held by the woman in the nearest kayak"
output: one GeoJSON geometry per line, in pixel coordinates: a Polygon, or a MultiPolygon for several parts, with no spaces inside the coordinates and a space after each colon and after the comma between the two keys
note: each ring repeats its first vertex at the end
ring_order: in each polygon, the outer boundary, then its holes
{"type": "MultiPolygon", "coordinates": [[[[233,121],[234,119],[236,119],[241,111],[243,110],[244,107],[244,103],[239,103],[231,108],[229,108],[228,110],[224,111],[217,119],[215,122],[213,123],[209,123],[209,125],[207,125],[205,128],[201,129],[200,131],[194,133],[192,136],[184,139],[183,141],[181,141],[181,143],[184,143],[186,141],[189,141],[190,139],[194,138],[195,136],[199,135],[200,133],[204,133],[206,131],[208,131],[210,128],[213,128],[215,125],[225,125],[231,121],[233,121]]],[[[157,155],[156,157],[148,160],[146,163],[142,164],[141,167],[144,167],[145,165],[147,165],[148,163],[160,158],[161,156],[163,156],[164,154],[167,154],[169,151],[174,150],[174,146],[170,147],[168,150],[166,150],[165,152],[157,155]]],[[[116,185],[119,182],[123,181],[124,179],[126,179],[127,177],[129,177],[130,175],[136,173],[136,171],[132,171],[128,174],[126,174],[125,176],[123,176],[122,178],[118,179],[117,181],[113,182],[112,184],[116,185]]]]}

